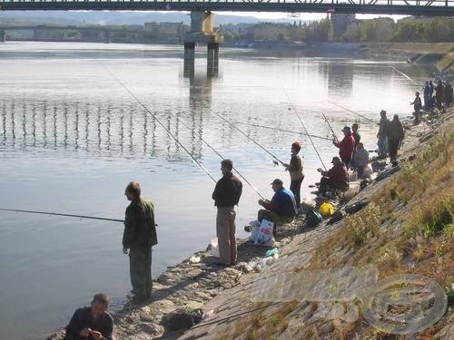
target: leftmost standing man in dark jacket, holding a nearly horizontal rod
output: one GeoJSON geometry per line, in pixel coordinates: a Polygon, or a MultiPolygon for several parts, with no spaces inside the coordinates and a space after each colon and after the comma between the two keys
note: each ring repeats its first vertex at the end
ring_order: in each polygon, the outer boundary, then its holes
{"type": "Polygon", "coordinates": [[[152,248],[158,244],[153,202],[141,199],[141,186],[132,181],[124,191],[131,204],[126,208],[123,253],[129,254],[133,301],[149,302],[152,297],[152,248]]]}

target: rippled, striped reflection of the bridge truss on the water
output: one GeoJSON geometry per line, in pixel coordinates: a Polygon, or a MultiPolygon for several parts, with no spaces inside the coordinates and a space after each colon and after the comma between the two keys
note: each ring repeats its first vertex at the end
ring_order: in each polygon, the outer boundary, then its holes
{"type": "Polygon", "coordinates": [[[181,108],[150,114],[140,105],[114,102],[24,101],[17,105],[5,99],[0,105],[2,151],[44,149],[187,161],[178,140],[192,156],[202,157],[202,111],[195,102],[189,114],[181,108]],[[176,140],[158,126],[157,119],[176,140]],[[181,121],[191,122],[190,133],[181,132],[181,121]],[[159,148],[160,140],[164,150],[159,148]]]}

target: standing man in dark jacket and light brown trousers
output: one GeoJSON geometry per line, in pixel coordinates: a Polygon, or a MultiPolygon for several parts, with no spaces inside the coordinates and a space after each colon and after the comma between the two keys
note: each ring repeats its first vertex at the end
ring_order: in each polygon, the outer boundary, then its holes
{"type": "Polygon", "coordinates": [[[234,206],[238,205],[242,197],[242,181],[232,174],[232,169],[232,160],[221,161],[222,178],[212,192],[214,205],[218,208],[216,234],[221,258],[218,264],[222,266],[235,265],[237,257],[234,206]]]}

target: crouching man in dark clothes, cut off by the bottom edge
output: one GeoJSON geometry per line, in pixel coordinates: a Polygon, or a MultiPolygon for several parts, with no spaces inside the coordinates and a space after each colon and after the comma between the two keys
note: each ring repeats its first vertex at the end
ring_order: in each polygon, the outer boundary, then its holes
{"type": "Polygon", "coordinates": [[[109,298],[101,293],[96,294],[91,307],[75,311],[66,326],[64,340],[112,340],[114,319],[106,312],[108,306],[109,298]]]}

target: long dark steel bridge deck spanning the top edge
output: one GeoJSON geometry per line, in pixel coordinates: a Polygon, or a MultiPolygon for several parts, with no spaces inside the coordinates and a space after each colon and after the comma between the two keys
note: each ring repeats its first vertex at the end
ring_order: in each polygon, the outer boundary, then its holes
{"type": "Polygon", "coordinates": [[[454,16],[454,0],[0,0],[0,10],[310,12],[454,16]]]}

